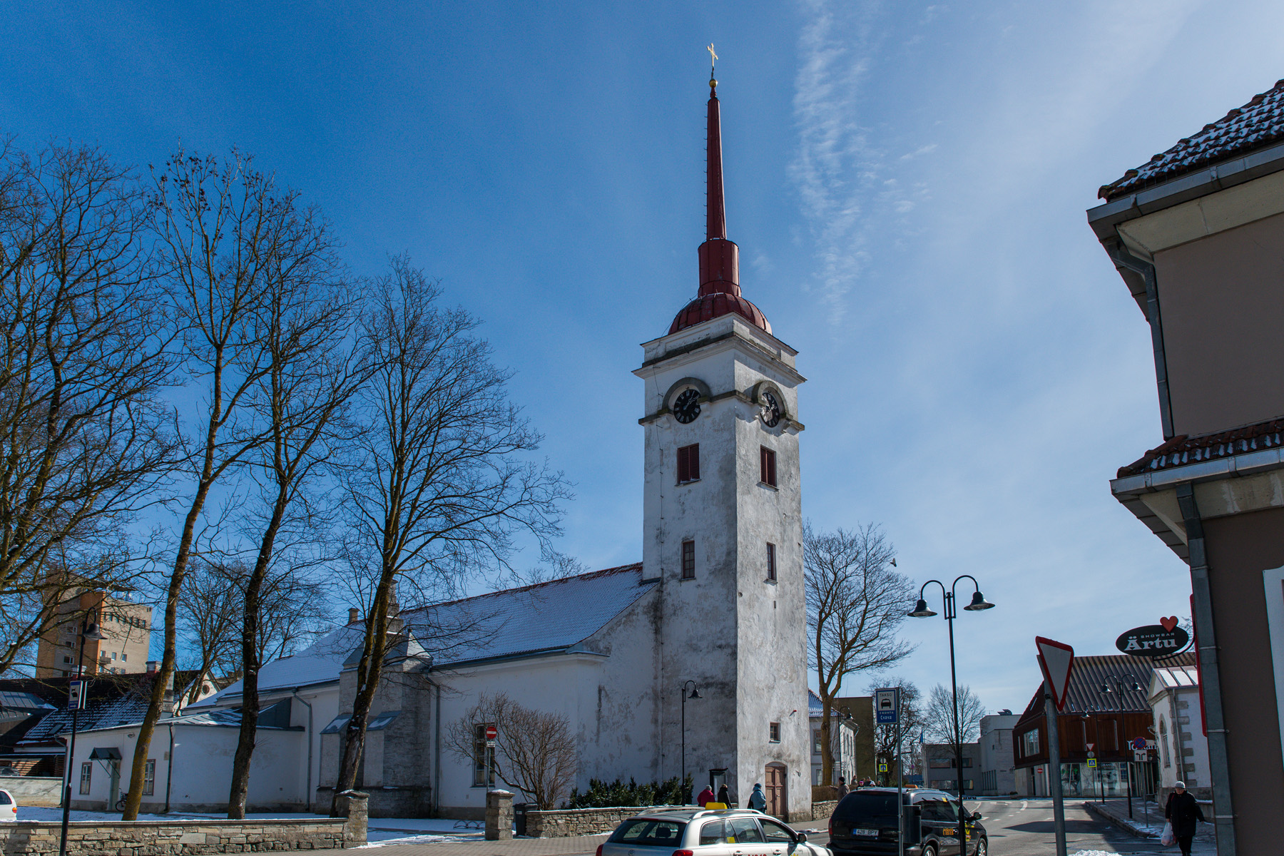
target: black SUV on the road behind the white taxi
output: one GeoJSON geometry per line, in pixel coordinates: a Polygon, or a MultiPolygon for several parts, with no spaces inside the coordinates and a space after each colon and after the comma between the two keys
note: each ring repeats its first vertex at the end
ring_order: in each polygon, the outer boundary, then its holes
{"type": "MultiPolygon", "coordinates": [[[[901,793],[905,856],[962,856],[958,802],[944,791],[915,788],[901,793]]],[[[966,811],[966,809],[964,809],[966,811]]],[[[986,856],[990,842],[981,815],[967,812],[966,856],[986,856]]],[[[829,817],[833,856],[896,853],[896,788],[860,788],[845,796],[829,817]]]]}

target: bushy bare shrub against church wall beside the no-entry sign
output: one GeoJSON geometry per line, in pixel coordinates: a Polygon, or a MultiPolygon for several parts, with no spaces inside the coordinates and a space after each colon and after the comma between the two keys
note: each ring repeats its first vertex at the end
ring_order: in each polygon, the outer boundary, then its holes
{"type": "Polygon", "coordinates": [[[525,707],[503,693],[483,693],[447,726],[446,740],[464,761],[476,762],[480,755],[484,764],[489,755],[496,778],[529,794],[541,811],[555,809],[570,794],[579,769],[566,716],[525,707]],[[489,753],[487,725],[494,725],[497,732],[489,753]]]}

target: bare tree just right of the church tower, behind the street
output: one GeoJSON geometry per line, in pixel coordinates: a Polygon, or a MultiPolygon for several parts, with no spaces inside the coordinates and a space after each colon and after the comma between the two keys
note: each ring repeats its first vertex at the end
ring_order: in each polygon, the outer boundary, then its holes
{"type": "Polygon", "coordinates": [[[886,669],[914,647],[896,638],[914,586],[896,572],[896,551],[878,526],[802,529],[809,661],[820,697],[820,783],[833,784],[831,711],[849,675],[886,669]]]}

